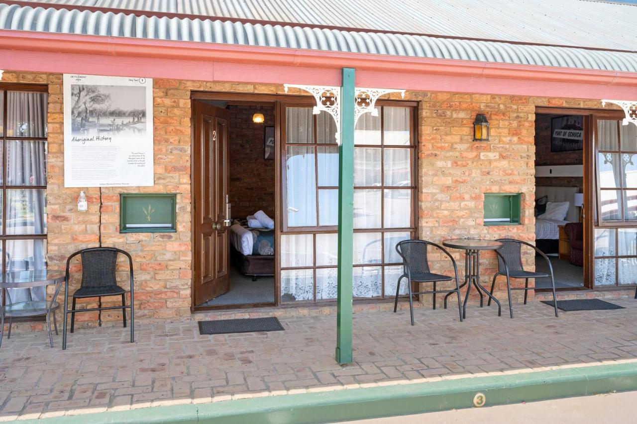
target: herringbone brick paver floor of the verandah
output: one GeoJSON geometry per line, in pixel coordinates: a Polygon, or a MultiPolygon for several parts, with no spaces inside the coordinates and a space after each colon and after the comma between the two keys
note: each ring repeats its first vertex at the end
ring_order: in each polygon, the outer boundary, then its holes
{"type": "Polygon", "coordinates": [[[80,329],[49,348],[43,332],[15,332],[0,348],[0,419],[129,409],[404,384],[484,372],[526,372],[637,358],[637,300],[626,309],[553,316],[540,302],[354,314],[354,364],[334,362],[336,316],[282,316],[285,331],[201,336],[197,322],[80,329]]]}

